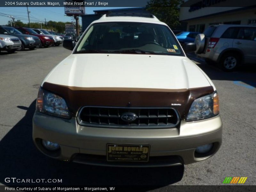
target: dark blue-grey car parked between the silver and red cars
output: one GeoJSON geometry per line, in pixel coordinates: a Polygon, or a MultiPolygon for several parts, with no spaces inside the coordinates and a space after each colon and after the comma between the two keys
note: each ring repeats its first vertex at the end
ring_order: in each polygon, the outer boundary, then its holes
{"type": "Polygon", "coordinates": [[[18,49],[19,51],[23,51],[25,48],[33,50],[40,44],[40,39],[38,37],[22,34],[20,31],[12,27],[0,26],[0,34],[18,37],[22,43],[21,47],[18,49]]]}

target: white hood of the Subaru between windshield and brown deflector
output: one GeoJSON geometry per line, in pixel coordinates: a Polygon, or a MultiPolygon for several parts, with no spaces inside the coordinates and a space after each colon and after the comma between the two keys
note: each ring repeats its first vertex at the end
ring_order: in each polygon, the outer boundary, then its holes
{"type": "MultiPolygon", "coordinates": [[[[180,90],[212,86],[187,57],[142,54],[71,54],[44,82],[80,88],[180,90]]],[[[42,86],[44,84],[42,83],[42,86]]]]}

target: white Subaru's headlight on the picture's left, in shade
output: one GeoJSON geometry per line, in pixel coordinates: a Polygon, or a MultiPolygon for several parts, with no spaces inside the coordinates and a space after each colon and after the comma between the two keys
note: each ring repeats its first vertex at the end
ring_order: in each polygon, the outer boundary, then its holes
{"type": "Polygon", "coordinates": [[[36,100],[36,110],[52,116],[70,118],[70,112],[63,98],[40,87],[36,100]]]}

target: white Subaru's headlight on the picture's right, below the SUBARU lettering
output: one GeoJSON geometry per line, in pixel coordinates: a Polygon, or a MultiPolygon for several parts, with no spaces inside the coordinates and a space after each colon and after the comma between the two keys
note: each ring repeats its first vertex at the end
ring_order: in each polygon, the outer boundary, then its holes
{"type": "Polygon", "coordinates": [[[186,121],[198,121],[217,116],[220,112],[217,92],[200,97],[192,103],[186,121]]]}

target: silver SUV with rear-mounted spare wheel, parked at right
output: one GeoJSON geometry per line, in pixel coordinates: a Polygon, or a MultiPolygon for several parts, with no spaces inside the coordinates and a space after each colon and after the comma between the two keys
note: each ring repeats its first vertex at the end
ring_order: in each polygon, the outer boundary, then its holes
{"type": "Polygon", "coordinates": [[[211,25],[195,39],[196,54],[225,71],[256,63],[256,26],[211,25]]]}

